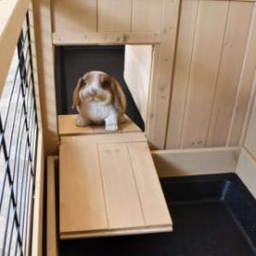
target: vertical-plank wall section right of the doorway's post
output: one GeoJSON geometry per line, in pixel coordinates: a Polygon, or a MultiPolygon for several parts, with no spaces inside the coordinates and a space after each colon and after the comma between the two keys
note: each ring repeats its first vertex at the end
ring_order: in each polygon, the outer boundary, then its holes
{"type": "Polygon", "coordinates": [[[255,71],[253,2],[183,0],[166,148],[236,146],[255,71]]]}

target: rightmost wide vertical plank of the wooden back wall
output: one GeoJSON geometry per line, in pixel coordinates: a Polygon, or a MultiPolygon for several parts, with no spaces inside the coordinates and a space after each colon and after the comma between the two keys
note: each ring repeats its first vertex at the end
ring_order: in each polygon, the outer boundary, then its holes
{"type": "MultiPolygon", "coordinates": [[[[224,147],[227,143],[253,9],[254,3],[230,2],[207,147],[224,147]]],[[[241,84],[240,90],[247,91],[247,85],[243,88],[241,84]]],[[[242,103],[241,108],[245,109],[246,99],[242,103]]],[[[233,125],[239,125],[241,128],[240,123],[241,121],[237,120],[233,125]]],[[[239,135],[237,134],[236,142],[239,141],[239,135]]]]}

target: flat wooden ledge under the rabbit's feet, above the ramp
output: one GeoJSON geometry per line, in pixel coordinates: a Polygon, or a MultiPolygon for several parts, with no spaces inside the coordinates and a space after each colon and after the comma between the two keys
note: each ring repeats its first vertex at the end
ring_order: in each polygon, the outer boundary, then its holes
{"type": "MultiPolygon", "coordinates": [[[[59,135],[61,137],[74,136],[74,135],[93,135],[110,133],[105,130],[105,125],[90,125],[85,127],[78,127],[75,125],[77,114],[58,115],[59,135]]],[[[125,115],[126,122],[119,124],[119,131],[111,133],[124,133],[124,132],[141,132],[142,130],[135,125],[131,119],[125,115]]]]}

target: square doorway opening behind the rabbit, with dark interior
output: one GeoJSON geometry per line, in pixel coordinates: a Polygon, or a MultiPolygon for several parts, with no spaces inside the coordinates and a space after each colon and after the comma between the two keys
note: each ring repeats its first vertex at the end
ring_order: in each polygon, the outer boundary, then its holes
{"type": "Polygon", "coordinates": [[[58,115],[72,109],[73,90],[91,70],[108,73],[124,90],[126,115],[145,131],[153,45],[87,45],[55,47],[55,90],[58,115]]]}

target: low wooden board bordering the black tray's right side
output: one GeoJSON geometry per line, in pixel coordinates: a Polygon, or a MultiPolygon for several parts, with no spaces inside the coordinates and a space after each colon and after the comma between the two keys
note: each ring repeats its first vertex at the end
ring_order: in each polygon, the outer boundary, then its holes
{"type": "Polygon", "coordinates": [[[256,199],[256,160],[244,147],[241,147],[241,154],[236,166],[236,174],[256,199]]]}

